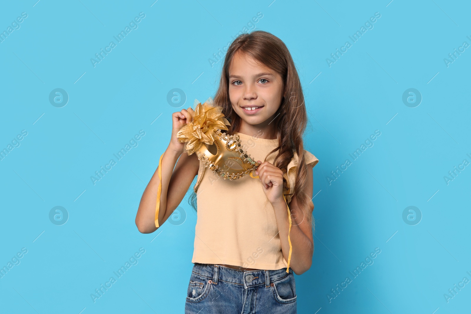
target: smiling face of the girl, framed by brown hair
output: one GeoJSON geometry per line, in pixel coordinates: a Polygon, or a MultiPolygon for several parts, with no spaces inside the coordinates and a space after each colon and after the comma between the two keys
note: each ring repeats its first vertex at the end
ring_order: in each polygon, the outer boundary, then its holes
{"type": "Polygon", "coordinates": [[[265,128],[275,118],[281,104],[282,77],[238,51],[229,66],[229,98],[232,109],[242,119],[243,129],[247,127],[244,122],[265,128]]]}

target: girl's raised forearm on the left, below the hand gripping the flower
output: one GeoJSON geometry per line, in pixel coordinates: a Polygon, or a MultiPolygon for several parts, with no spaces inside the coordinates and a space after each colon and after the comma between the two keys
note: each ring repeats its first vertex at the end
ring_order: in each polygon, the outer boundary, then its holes
{"type": "MultiPolygon", "coordinates": [[[[167,207],[167,191],[169,188],[170,179],[175,168],[175,164],[179,159],[181,153],[176,152],[167,147],[162,157],[162,164],[158,165],[154,175],[146,186],[139,203],[138,213],[136,215],[136,226],[141,233],[152,233],[158,228],[155,226],[155,206],[157,204],[157,189],[159,187],[159,167],[162,167],[162,182],[161,182],[161,195],[160,195],[160,208],[159,208],[159,226],[162,224],[162,219],[165,216],[167,207]]],[[[160,156],[159,156],[160,159],[160,156]]],[[[158,160],[157,159],[157,162],[158,160]]]]}

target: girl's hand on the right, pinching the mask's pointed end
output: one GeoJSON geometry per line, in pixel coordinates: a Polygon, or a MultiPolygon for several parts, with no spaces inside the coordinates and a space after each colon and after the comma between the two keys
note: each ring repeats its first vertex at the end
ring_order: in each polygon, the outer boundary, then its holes
{"type": "MultiPolygon", "coordinates": [[[[258,161],[261,162],[261,161],[258,161]]],[[[263,192],[267,195],[268,201],[275,204],[284,201],[283,198],[283,171],[269,163],[262,162],[255,171],[255,175],[259,176],[262,183],[263,192]]]]}

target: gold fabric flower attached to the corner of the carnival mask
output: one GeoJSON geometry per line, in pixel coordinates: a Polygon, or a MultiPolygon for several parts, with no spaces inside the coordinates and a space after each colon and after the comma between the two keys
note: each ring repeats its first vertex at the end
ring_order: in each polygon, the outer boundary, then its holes
{"type": "MultiPolygon", "coordinates": [[[[196,101],[195,101],[196,103],[196,101]]],[[[179,143],[185,143],[188,155],[200,149],[203,143],[213,145],[216,129],[228,130],[229,121],[224,117],[221,106],[213,106],[212,98],[203,105],[198,103],[192,121],[184,125],[177,133],[179,143]]]]}

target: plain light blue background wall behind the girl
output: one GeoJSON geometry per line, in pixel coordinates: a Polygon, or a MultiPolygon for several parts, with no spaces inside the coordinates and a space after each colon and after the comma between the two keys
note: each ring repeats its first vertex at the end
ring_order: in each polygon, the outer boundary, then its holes
{"type": "Polygon", "coordinates": [[[319,159],[315,251],[295,276],[298,313],[469,309],[471,284],[448,303],[444,294],[471,280],[471,167],[448,185],[444,176],[471,161],[471,49],[448,67],[444,58],[471,44],[470,9],[444,0],[2,3],[1,31],[28,17],[0,43],[0,148],[28,135],[0,161],[0,266],[28,252],[0,279],[0,312],[183,313],[194,210],[185,199],[187,220],[152,234],[139,233],[134,218],[169,143],[171,113],[214,95],[222,61],[208,59],[258,12],[256,29],[283,40],[298,67],[305,148],[319,159]],[[138,29],[93,67],[90,58],[139,12],[138,29]],[[374,28],[329,67],[325,59],[375,12],[374,28]],[[49,103],[56,88],[69,96],[62,108],[49,103]],[[187,97],[179,109],[166,100],[174,88],[187,97]],[[402,102],[409,88],[422,94],[415,108],[402,102]],[[90,176],[141,129],[138,146],[93,185],[90,176]],[[329,185],[375,130],[374,146],[329,185]],[[55,206],[69,213],[64,225],[49,220],[55,206]],[[405,223],[407,206],[420,209],[419,224],[405,223]],[[90,294],[141,247],[138,264],[94,303],[90,294]],[[375,248],[374,264],[329,302],[375,248]]]}

